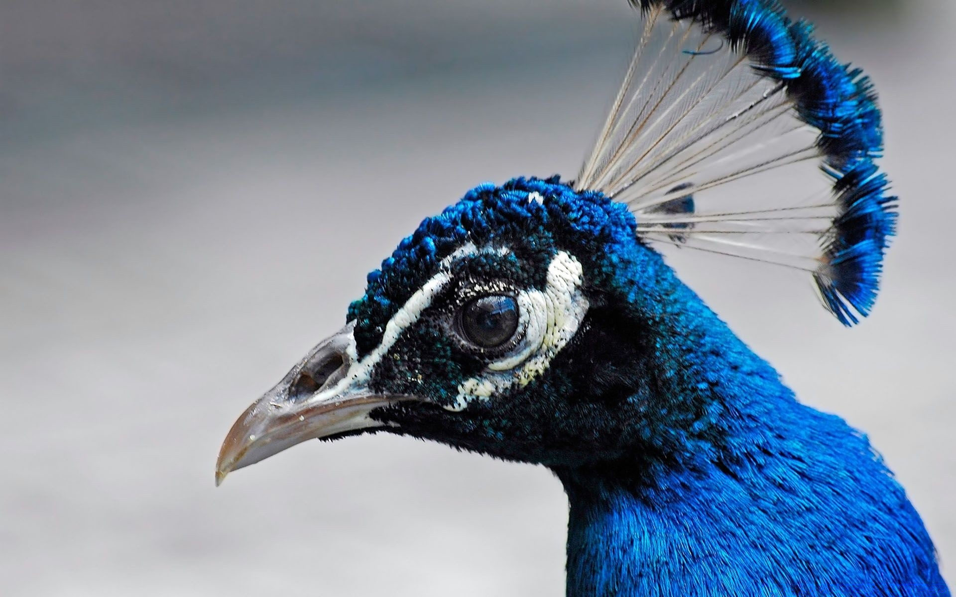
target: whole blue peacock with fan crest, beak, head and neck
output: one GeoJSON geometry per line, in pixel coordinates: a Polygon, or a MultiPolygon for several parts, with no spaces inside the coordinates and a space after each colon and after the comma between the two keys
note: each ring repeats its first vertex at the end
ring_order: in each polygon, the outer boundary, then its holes
{"type": "Polygon", "coordinates": [[[482,183],[426,218],[235,421],[216,484],[306,439],[398,434],[550,469],[569,597],[948,596],[868,438],[665,257],[792,269],[839,323],[869,315],[898,214],[871,80],[775,0],[629,4],[636,50],[576,178],[482,183]]]}

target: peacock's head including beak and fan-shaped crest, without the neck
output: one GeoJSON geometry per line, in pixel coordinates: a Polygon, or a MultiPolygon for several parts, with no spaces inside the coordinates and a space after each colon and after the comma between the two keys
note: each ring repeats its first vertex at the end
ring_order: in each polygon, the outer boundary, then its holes
{"type": "Polygon", "coordinates": [[[710,443],[713,387],[775,373],[651,243],[809,273],[845,325],[870,312],[896,198],[869,79],[772,2],[631,4],[639,47],[574,185],[481,185],[425,220],[233,425],[217,480],[372,431],[553,467],[710,443]]]}

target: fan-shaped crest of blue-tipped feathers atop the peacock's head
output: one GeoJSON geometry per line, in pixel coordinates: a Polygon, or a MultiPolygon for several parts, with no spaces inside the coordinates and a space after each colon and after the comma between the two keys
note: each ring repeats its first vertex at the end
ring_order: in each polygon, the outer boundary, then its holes
{"type": "Polygon", "coordinates": [[[642,239],[812,274],[845,325],[872,309],[896,198],[857,69],[772,0],[632,0],[643,29],[577,190],[642,239]]]}

